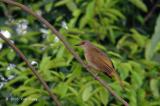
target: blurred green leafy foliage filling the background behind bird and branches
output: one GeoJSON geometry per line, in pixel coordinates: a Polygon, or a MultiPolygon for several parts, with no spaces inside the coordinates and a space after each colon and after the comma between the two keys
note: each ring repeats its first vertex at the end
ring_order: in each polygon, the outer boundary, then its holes
{"type": "MultiPolygon", "coordinates": [[[[130,106],[160,105],[158,0],[17,0],[54,25],[74,46],[92,41],[125,81],[100,75],[130,106]],[[147,15],[155,11],[147,19],[147,15]]],[[[120,106],[45,25],[0,2],[0,29],[26,55],[64,106],[120,106]]],[[[0,40],[0,105],[50,106],[52,100],[19,56],[0,40]]]]}

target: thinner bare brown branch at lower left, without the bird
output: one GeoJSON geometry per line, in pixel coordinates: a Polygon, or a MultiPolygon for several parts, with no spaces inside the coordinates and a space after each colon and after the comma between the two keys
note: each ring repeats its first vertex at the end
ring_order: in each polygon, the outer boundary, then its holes
{"type": "Polygon", "coordinates": [[[4,35],[2,35],[2,33],[0,32],[0,38],[2,38],[9,46],[11,46],[11,48],[17,52],[17,54],[19,55],[19,57],[22,58],[22,60],[24,60],[24,62],[28,65],[28,67],[32,70],[33,74],[38,78],[38,80],[40,81],[40,83],[42,83],[42,85],[44,86],[44,88],[47,90],[48,94],[51,96],[51,98],[53,99],[53,101],[55,101],[57,106],[61,106],[60,102],[58,101],[56,95],[52,94],[52,92],[50,91],[48,85],[46,84],[46,82],[42,79],[42,77],[38,74],[38,71],[35,70],[35,68],[29,63],[29,61],[27,60],[27,58],[24,56],[24,54],[9,40],[7,39],[4,35]]]}

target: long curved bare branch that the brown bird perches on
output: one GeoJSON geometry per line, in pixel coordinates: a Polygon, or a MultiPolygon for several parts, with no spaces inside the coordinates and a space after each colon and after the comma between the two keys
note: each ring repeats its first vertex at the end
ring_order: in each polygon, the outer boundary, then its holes
{"type": "Polygon", "coordinates": [[[11,1],[11,0],[0,0],[2,2],[11,4],[11,5],[15,5],[17,7],[20,7],[22,10],[26,11],[27,13],[31,14],[32,16],[34,16],[37,20],[39,20],[40,22],[42,22],[43,24],[45,24],[51,31],[52,33],[54,33],[64,44],[64,46],[69,50],[69,52],[74,56],[75,59],[77,59],[77,61],[84,67],[86,68],[86,70],[88,72],[91,73],[91,75],[98,80],[117,100],[119,100],[120,102],[122,102],[125,106],[128,106],[128,103],[121,98],[116,92],[114,92],[110,86],[104,81],[102,80],[100,77],[96,76],[92,71],[90,71],[90,68],[83,62],[83,60],[80,58],[80,56],[73,50],[73,48],[70,46],[70,44],[68,43],[68,41],[64,38],[64,36],[59,33],[56,28],[54,26],[52,26],[47,20],[45,20],[43,17],[37,15],[36,13],[34,13],[31,9],[29,9],[28,7],[26,7],[25,5],[22,5],[20,3],[11,1]]]}

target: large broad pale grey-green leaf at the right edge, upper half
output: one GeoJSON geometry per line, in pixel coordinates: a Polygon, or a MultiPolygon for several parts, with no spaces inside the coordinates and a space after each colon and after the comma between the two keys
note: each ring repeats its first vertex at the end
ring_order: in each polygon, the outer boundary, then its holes
{"type": "Polygon", "coordinates": [[[147,60],[150,60],[155,53],[156,46],[160,42],[159,34],[160,34],[160,15],[157,18],[154,34],[152,35],[151,41],[146,47],[145,58],[147,60]]]}

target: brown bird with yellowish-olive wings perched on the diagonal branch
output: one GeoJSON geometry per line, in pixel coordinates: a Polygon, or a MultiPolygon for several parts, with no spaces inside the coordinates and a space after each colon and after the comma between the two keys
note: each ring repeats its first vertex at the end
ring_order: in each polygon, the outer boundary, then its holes
{"type": "Polygon", "coordinates": [[[109,77],[115,77],[123,87],[122,80],[117,74],[112,61],[104,52],[87,40],[81,41],[78,45],[84,49],[86,61],[92,69],[104,72],[109,77]]]}

